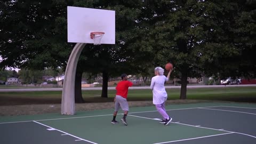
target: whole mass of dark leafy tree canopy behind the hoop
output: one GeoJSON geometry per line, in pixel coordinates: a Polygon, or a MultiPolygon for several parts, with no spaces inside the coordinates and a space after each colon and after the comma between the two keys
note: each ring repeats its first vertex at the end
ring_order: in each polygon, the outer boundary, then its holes
{"type": "Polygon", "coordinates": [[[1,1],[0,67],[65,68],[75,45],[67,43],[67,6],[116,11],[116,44],[86,45],[77,67],[79,76],[102,73],[105,91],[109,76],[147,76],[167,62],[181,78],[181,99],[188,77],[255,77],[250,0],[1,1]]]}

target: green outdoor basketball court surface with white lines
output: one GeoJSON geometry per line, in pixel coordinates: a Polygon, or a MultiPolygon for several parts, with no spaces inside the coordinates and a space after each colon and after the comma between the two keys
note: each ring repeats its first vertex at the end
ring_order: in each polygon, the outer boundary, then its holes
{"type": "Polygon", "coordinates": [[[205,102],[166,106],[164,126],[155,107],[132,107],[111,124],[114,109],[0,117],[0,143],[256,143],[256,105],[205,102]]]}

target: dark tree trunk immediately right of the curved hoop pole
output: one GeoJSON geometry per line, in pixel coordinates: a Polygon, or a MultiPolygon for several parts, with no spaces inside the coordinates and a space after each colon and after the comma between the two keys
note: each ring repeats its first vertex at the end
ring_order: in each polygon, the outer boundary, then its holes
{"type": "Polygon", "coordinates": [[[82,71],[76,70],[75,77],[75,103],[84,103],[84,99],[82,97],[82,71]]]}

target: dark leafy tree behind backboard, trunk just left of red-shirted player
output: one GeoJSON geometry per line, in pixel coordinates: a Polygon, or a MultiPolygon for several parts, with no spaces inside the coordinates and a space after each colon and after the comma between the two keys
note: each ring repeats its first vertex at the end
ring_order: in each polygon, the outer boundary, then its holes
{"type": "Polygon", "coordinates": [[[137,1],[78,1],[75,6],[116,11],[116,45],[86,45],[78,62],[78,65],[82,65],[87,73],[102,73],[101,97],[107,98],[109,76],[132,74],[138,71],[136,64],[139,60],[135,59],[137,51],[134,51],[132,44],[138,37],[139,28],[136,28],[136,20],[139,19],[141,7],[138,8],[137,1]]]}

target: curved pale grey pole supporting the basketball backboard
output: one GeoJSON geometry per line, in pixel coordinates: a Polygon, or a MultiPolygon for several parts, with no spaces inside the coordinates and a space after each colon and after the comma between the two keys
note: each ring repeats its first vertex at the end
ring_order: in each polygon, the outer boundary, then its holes
{"type": "Polygon", "coordinates": [[[65,71],[65,78],[62,88],[61,114],[75,114],[75,76],[79,56],[84,49],[85,43],[77,43],[71,52],[68,65],[65,71]]]}

